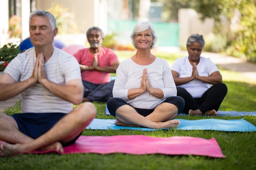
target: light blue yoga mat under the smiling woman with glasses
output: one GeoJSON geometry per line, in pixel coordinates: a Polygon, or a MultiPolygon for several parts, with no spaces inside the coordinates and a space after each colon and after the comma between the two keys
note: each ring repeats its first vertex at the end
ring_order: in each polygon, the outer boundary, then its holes
{"type": "MultiPolygon", "coordinates": [[[[245,121],[239,120],[221,120],[221,119],[201,119],[201,120],[186,120],[175,119],[181,122],[177,129],[180,130],[214,130],[214,131],[233,131],[233,132],[251,132],[256,131],[256,127],[245,121]]],[[[86,127],[86,129],[100,129],[100,130],[120,130],[131,129],[140,131],[155,131],[159,129],[150,128],[136,128],[126,126],[116,126],[115,119],[93,119],[93,121],[86,127]]]]}

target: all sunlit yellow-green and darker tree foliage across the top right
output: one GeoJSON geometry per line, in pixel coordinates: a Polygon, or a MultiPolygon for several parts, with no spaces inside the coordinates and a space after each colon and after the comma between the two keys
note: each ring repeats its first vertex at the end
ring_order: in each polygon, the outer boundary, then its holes
{"type": "MultiPolygon", "coordinates": [[[[154,0],[155,1],[155,0],[154,0]]],[[[248,61],[256,62],[256,0],[157,0],[163,2],[167,15],[165,21],[178,20],[178,9],[190,7],[205,18],[216,20],[215,34],[227,39],[229,54],[245,56],[248,61]],[[234,13],[238,10],[240,18],[233,24],[234,13]],[[230,22],[230,27],[223,32],[221,17],[230,22]],[[235,27],[235,29],[234,29],[235,27]]]]}

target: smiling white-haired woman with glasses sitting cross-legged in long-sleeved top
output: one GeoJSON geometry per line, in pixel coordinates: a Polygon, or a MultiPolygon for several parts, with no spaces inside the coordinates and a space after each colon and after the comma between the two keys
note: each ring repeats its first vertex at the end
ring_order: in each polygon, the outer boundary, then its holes
{"type": "Polygon", "coordinates": [[[157,36],[149,22],[139,22],[131,34],[137,52],[120,63],[107,107],[118,126],[173,128],[173,120],[184,107],[177,97],[171,68],[164,59],[151,54],[157,36]]]}

